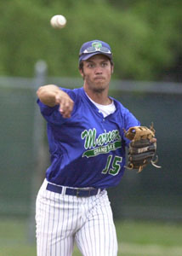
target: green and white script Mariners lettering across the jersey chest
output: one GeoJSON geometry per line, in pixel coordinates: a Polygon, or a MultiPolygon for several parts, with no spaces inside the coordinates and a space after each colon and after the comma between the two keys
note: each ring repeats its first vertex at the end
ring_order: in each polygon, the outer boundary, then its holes
{"type": "Polygon", "coordinates": [[[113,143],[115,141],[121,140],[118,130],[104,132],[96,138],[96,129],[84,130],[81,134],[82,140],[85,140],[84,148],[95,148],[97,146],[103,146],[107,143],[113,143]]]}

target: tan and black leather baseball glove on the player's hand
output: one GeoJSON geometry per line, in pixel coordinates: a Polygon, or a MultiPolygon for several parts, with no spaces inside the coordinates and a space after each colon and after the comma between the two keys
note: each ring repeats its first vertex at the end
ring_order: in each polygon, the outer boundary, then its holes
{"type": "Polygon", "coordinates": [[[127,169],[138,169],[141,172],[145,166],[149,163],[152,166],[156,166],[156,160],[154,160],[156,154],[156,142],[151,142],[155,137],[155,130],[153,125],[150,128],[145,126],[130,127],[128,131],[125,131],[125,137],[131,140],[128,148],[128,166],[127,169]]]}

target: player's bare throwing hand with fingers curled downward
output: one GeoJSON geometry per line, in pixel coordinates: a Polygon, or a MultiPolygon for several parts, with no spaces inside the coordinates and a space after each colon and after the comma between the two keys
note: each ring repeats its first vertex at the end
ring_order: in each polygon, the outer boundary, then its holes
{"type": "Polygon", "coordinates": [[[71,112],[74,106],[74,102],[71,97],[68,96],[64,91],[61,91],[57,96],[55,96],[56,104],[60,104],[60,113],[65,119],[71,117],[71,112]]]}

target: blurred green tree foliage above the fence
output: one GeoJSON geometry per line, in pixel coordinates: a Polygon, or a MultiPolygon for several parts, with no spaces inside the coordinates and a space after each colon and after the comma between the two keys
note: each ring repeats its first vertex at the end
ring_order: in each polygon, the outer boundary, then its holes
{"type": "Polygon", "coordinates": [[[43,59],[48,75],[78,76],[79,48],[95,38],[111,44],[115,78],[157,79],[182,55],[179,6],[180,0],[2,1],[0,74],[33,76],[43,59]],[[62,30],[49,25],[56,14],[67,19],[62,30]]]}

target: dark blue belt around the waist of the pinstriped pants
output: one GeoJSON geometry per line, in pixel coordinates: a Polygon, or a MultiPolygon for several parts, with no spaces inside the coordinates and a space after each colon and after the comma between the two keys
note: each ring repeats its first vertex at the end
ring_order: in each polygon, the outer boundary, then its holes
{"type": "MultiPolygon", "coordinates": [[[[62,190],[63,190],[62,187],[56,186],[56,185],[50,184],[50,183],[48,183],[46,189],[49,191],[55,192],[55,193],[59,193],[59,194],[62,194],[62,190]]],[[[70,188],[66,188],[65,195],[76,195],[78,197],[88,197],[91,195],[97,195],[99,190],[101,192],[104,189],[70,189],[70,188]]]]}

